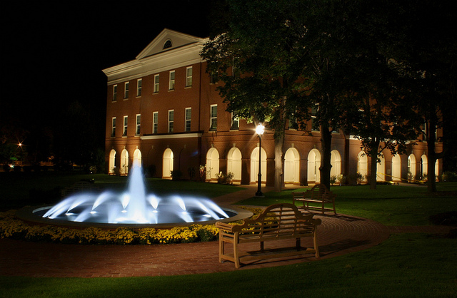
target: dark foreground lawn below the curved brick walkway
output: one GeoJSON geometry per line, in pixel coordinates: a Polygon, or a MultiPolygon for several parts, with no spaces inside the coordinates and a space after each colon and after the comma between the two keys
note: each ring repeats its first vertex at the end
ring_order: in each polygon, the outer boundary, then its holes
{"type": "Polygon", "coordinates": [[[1,277],[0,289],[2,297],[456,297],[456,260],[453,239],[403,234],[319,262],[171,277],[1,277]]]}

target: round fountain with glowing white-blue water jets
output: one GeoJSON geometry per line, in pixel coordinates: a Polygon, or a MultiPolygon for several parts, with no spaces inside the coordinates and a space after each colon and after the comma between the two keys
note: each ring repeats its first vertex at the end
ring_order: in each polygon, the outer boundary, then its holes
{"type": "Polygon", "coordinates": [[[206,198],[182,195],[158,197],[146,193],[142,168],[136,166],[129,175],[125,192],[81,192],[66,197],[54,206],[20,210],[18,216],[34,222],[94,227],[171,227],[210,224],[217,220],[231,221],[249,216],[234,209],[222,209],[206,198]]]}

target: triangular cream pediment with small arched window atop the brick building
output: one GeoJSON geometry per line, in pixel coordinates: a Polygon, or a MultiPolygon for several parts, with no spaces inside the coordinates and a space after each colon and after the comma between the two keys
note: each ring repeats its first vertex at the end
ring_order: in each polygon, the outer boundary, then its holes
{"type": "Polygon", "coordinates": [[[206,38],[199,38],[189,34],[184,34],[178,31],[164,29],[161,33],[144,48],[141,53],[136,56],[136,59],[141,59],[153,56],[157,53],[170,51],[174,48],[186,46],[191,43],[203,43],[206,38]]]}

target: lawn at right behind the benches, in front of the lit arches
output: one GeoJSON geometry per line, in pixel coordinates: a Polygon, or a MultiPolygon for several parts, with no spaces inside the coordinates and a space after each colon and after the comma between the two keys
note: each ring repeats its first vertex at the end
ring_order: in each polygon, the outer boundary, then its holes
{"type": "MultiPolygon", "coordinates": [[[[265,197],[251,197],[240,205],[268,206],[278,202],[292,202],[292,191],[267,192],[265,197]]],[[[429,194],[426,186],[368,185],[331,187],[336,194],[339,213],[376,220],[384,225],[430,225],[428,217],[440,212],[457,211],[457,183],[438,183],[438,194],[429,194]]]]}

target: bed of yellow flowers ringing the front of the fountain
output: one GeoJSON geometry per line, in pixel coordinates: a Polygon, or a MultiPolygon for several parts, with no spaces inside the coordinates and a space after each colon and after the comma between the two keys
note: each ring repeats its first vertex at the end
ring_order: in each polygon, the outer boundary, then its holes
{"type": "MultiPolygon", "coordinates": [[[[260,208],[245,209],[251,210],[253,216],[261,212],[260,208]]],[[[219,236],[219,229],[214,225],[199,224],[171,229],[118,227],[116,230],[28,225],[17,219],[15,212],[0,212],[0,238],[88,245],[153,245],[214,241],[219,236]]]]}

